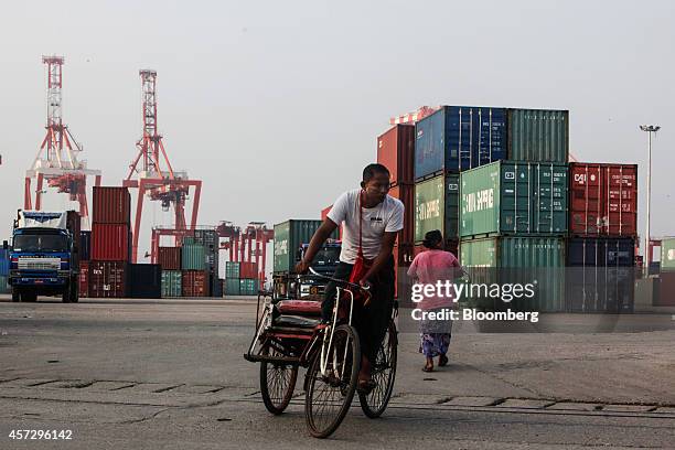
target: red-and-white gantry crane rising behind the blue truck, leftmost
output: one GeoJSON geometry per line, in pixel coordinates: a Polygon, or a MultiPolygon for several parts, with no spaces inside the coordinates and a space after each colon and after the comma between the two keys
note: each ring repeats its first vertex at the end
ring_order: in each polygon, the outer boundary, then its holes
{"type": "Polygon", "coordinates": [[[83,151],[71,130],[63,124],[62,88],[63,56],[42,56],[47,66],[47,121],[46,136],[33,164],[25,171],[25,191],[23,207],[42,208],[43,183],[60,193],[68,194],[69,200],[79,203],[79,215],[85,228],[89,227],[89,208],[87,206],[87,175],[95,176],[95,184],[100,185],[100,171],[87,169],[86,161],[79,161],[83,151]],[[31,180],[35,179],[35,203],[32,201],[31,180]]]}

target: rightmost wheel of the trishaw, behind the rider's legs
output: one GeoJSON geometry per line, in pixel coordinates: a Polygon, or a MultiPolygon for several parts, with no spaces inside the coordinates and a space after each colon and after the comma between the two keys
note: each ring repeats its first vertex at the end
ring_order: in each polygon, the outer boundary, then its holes
{"type": "Polygon", "coordinates": [[[394,321],[390,321],[382,345],[379,345],[377,351],[377,361],[373,365],[375,387],[368,394],[358,394],[361,409],[371,419],[382,416],[392,398],[394,379],[396,378],[397,349],[396,324],[394,321]]]}

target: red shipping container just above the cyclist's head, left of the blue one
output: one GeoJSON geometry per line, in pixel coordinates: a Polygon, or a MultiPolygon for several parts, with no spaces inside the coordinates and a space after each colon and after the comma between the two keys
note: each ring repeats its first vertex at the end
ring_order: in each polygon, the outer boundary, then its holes
{"type": "Polygon", "coordinates": [[[389,169],[392,184],[415,182],[415,126],[396,125],[377,138],[377,162],[389,169]]]}

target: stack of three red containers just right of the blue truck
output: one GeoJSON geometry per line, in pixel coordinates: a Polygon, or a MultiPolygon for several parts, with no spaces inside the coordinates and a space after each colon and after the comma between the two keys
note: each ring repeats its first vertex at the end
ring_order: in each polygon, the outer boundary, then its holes
{"type": "Polygon", "coordinates": [[[131,196],[127,188],[94,186],[89,297],[126,297],[131,255],[131,196]]]}

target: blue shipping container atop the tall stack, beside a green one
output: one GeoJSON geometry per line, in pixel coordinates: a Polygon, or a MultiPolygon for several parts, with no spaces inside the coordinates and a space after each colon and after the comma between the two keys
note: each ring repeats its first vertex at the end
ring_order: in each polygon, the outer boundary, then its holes
{"type": "Polygon", "coordinates": [[[415,127],[415,180],[507,157],[505,108],[443,106],[415,127]]]}

